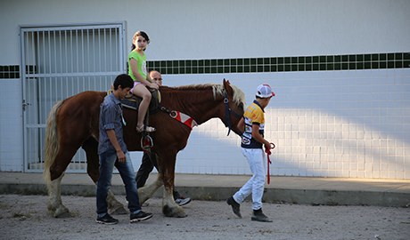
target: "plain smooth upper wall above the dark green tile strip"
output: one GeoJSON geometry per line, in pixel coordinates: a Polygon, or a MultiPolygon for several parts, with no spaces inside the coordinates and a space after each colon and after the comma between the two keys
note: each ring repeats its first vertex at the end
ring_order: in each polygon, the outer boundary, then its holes
{"type": "Polygon", "coordinates": [[[20,63],[19,26],[127,21],[149,60],[408,52],[407,0],[8,0],[0,65],[20,63]],[[6,46],[6,47],[4,47],[6,46]]]}

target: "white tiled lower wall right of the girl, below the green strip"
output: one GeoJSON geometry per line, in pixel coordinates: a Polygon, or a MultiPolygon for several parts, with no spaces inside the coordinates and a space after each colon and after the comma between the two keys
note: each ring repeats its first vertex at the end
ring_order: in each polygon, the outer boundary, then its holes
{"type": "MultiPolygon", "coordinates": [[[[169,85],[216,82],[166,76],[169,85]]],[[[274,87],[266,139],[276,144],[271,172],[287,176],[409,179],[410,70],[238,74],[249,104],[258,84],[274,87]]],[[[237,136],[219,120],[194,129],[176,172],[250,173],[237,136]]]]}

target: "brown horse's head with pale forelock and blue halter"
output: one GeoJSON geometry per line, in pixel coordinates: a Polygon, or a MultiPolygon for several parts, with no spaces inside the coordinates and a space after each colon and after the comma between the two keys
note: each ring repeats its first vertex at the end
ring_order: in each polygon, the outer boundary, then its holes
{"type": "Polygon", "coordinates": [[[221,118],[225,126],[229,128],[229,132],[232,130],[238,135],[242,135],[243,129],[238,128],[238,123],[241,120],[244,112],[245,106],[245,94],[236,86],[229,83],[229,80],[224,79],[222,84],[223,89],[214,91],[220,91],[219,93],[223,96],[224,102],[224,115],[221,118]]]}

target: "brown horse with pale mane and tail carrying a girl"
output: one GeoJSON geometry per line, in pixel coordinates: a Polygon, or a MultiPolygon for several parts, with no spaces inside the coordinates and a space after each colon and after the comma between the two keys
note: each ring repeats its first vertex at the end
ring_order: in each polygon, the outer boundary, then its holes
{"type": "MultiPolygon", "coordinates": [[[[219,118],[229,130],[241,134],[237,123],[243,115],[244,94],[231,85],[223,84],[189,85],[160,88],[161,105],[193,117],[197,124],[211,118],[219,118]]],[[[98,122],[100,104],[106,92],[81,92],[66,100],[57,102],[47,119],[45,137],[45,181],[48,188],[48,211],[54,217],[66,216],[69,210],[61,202],[61,179],[71,158],[78,148],[86,151],[87,173],[94,181],[99,178],[98,122]]],[[[124,139],[129,151],[141,151],[141,135],[135,131],[136,111],[124,108],[127,125],[124,139]]],[[[162,212],[168,217],[185,217],[184,209],[173,198],[176,154],[185,148],[192,131],[190,127],[176,121],[166,111],[159,111],[149,117],[150,125],[157,131],[151,134],[159,166],[158,179],[151,185],[139,188],[141,204],[164,185],[162,212]]],[[[111,212],[124,207],[110,192],[107,197],[111,212]]]]}

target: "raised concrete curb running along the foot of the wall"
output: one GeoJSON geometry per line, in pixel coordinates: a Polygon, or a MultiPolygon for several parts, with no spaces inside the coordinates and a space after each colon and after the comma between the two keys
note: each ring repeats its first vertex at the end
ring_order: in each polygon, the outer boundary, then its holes
{"type": "MultiPolygon", "coordinates": [[[[156,178],[152,173],[148,183],[156,178]]],[[[176,174],[176,188],[194,200],[220,201],[232,196],[249,180],[246,175],[176,174]]],[[[94,196],[95,186],[85,173],[69,173],[61,182],[61,195],[94,196]]],[[[119,174],[112,190],[124,195],[119,174]]],[[[161,196],[161,189],[154,197],[161,196]]],[[[41,173],[0,172],[0,194],[46,195],[41,173]]],[[[410,204],[410,180],[271,177],[265,203],[313,205],[373,205],[406,207],[410,204]]]]}

